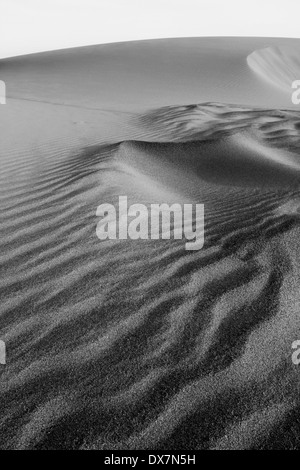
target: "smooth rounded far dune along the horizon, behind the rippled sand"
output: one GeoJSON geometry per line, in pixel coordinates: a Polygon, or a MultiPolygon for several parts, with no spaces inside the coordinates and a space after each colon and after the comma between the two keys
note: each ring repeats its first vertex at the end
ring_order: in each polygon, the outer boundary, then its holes
{"type": "Polygon", "coordinates": [[[120,112],[211,101],[293,108],[290,96],[274,90],[247,64],[247,57],[266,47],[292,51],[282,64],[277,65],[275,57],[269,75],[274,72],[276,77],[278,70],[296,64],[294,56],[300,49],[297,39],[186,38],[3,59],[0,73],[7,83],[8,98],[69,107],[120,112]]]}

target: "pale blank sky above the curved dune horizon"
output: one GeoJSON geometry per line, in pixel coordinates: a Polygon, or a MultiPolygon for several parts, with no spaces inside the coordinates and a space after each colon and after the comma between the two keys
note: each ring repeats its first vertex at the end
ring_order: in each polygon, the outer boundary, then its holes
{"type": "Polygon", "coordinates": [[[300,0],[0,0],[0,58],[138,39],[300,37],[300,0]]]}

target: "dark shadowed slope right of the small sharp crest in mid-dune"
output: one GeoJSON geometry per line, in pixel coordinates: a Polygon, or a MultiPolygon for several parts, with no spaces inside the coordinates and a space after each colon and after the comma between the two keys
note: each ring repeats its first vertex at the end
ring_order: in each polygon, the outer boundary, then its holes
{"type": "MultiPolygon", "coordinates": [[[[247,135],[215,142],[122,144],[135,170],[170,188],[197,194],[197,181],[230,187],[289,187],[299,184],[300,159],[263,146],[247,135]],[[193,186],[195,181],[195,187],[193,186]],[[188,183],[189,182],[189,183],[188,183]]],[[[202,183],[203,184],[203,183],[202,183]]],[[[201,188],[202,184],[199,183],[201,188]]]]}

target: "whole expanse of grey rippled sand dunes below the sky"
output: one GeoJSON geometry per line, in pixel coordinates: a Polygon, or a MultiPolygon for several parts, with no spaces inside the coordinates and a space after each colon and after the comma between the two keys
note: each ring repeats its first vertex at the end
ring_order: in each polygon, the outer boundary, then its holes
{"type": "Polygon", "coordinates": [[[0,107],[2,449],[300,447],[300,115],[278,108],[276,87],[249,105],[268,89],[247,66],[265,42],[153,41],[0,62],[11,77],[0,107]],[[244,101],[229,86],[218,102],[217,79],[206,91],[169,81],[187,64],[194,77],[196,57],[225,70],[233,44],[235,71],[253,86],[244,101]],[[145,84],[135,70],[130,83],[137,51],[150,51],[151,68],[166,47],[167,76],[145,84]],[[147,207],[204,203],[203,249],[100,241],[97,206],[124,194],[147,207]]]}

